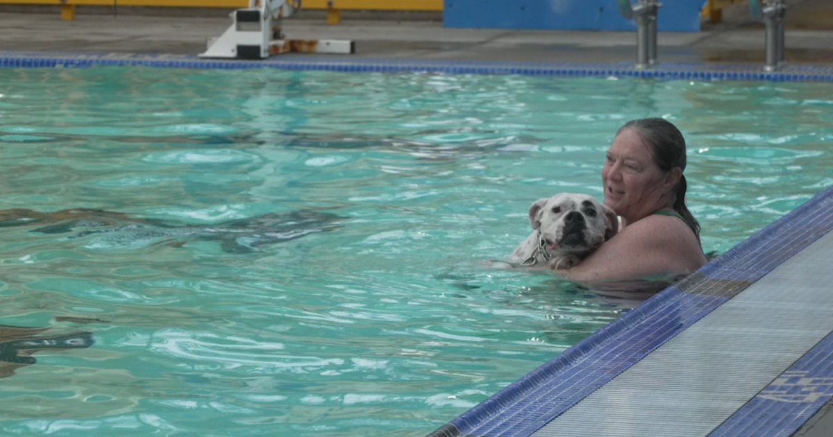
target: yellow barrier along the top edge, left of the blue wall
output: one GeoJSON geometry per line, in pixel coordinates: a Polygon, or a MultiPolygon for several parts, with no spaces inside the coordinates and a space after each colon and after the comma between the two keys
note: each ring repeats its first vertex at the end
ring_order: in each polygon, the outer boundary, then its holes
{"type": "MultiPolygon", "coordinates": [[[[151,6],[151,7],[247,7],[248,0],[0,0],[13,4],[54,4],[61,6],[61,18],[75,18],[75,7],[151,6]]],[[[342,21],[342,9],[367,11],[442,11],[442,0],[302,0],[302,9],[326,9],[327,22],[342,21]]]]}

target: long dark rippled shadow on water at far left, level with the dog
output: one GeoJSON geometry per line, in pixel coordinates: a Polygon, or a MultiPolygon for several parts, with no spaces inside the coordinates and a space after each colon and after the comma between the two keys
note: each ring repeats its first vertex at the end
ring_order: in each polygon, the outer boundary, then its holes
{"type": "Polygon", "coordinates": [[[100,237],[98,246],[137,244],[183,246],[189,241],[218,241],[227,253],[249,253],[258,247],[333,231],[347,217],[301,210],[262,214],[210,225],[181,225],[132,217],[122,212],[76,208],[52,212],[28,209],[0,211],[0,227],[37,226],[32,232],[72,234],[67,239],[100,237]]]}

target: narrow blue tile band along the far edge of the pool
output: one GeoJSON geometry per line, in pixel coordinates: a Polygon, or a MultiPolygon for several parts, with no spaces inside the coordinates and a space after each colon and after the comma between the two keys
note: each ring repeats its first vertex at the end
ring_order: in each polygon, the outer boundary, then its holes
{"type": "Polygon", "coordinates": [[[332,72],[445,72],[556,77],[616,76],[698,81],[833,82],[833,66],[813,65],[788,65],[778,72],[765,72],[760,64],[664,62],[651,69],[639,70],[634,67],[633,62],[462,62],[297,54],[270,57],[262,61],[245,61],[203,59],[194,55],[0,51],[0,67],[71,68],[99,65],[203,69],[279,68],[332,72]]]}

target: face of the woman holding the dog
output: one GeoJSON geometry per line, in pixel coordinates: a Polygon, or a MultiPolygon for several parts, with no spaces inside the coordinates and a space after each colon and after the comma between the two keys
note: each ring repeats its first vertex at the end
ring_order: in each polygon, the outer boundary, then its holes
{"type": "Polygon", "coordinates": [[[636,130],[625,129],[613,139],[601,169],[605,205],[628,221],[639,220],[667,206],[666,176],[636,130]]]}

